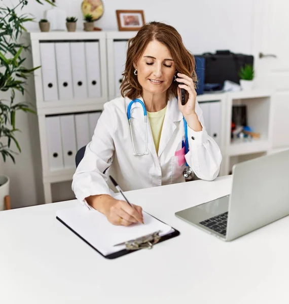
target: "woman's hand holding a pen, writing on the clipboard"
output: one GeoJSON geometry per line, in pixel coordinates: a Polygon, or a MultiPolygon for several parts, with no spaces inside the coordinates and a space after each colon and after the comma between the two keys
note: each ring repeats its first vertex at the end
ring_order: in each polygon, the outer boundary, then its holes
{"type": "Polygon", "coordinates": [[[109,195],[89,197],[87,202],[96,210],[102,212],[114,225],[129,226],[133,223],[143,223],[142,208],[125,201],[116,200],[109,195]]]}

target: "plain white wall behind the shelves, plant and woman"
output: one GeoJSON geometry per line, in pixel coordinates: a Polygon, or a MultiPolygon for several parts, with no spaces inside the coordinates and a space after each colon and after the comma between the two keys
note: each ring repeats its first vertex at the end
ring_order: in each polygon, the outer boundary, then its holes
{"type": "MultiPolygon", "coordinates": [[[[146,21],[163,21],[174,26],[182,35],[186,47],[194,54],[214,52],[217,49],[228,49],[233,52],[252,52],[252,18],[254,0],[104,0],[104,15],[95,22],[95,26],[103,30],[117,30],[116,10],[144,10],[146,21]]],[[[4,5],[17,4],[17,0],[3,0],[4,5]]],[[[77,16],[78,28],[82,26],[81,0],[58,0],[59,8],[65,9],[67,16],[77,16]]],[[[39,5],[35,0],[29,0],[24,13],[34,15],[39,21],[44,17],[44,11],[50,5],[39,5]]],[[[30,31],[38,31],[37,23],[27,24],[30,31]]],[[[17,101],[28,101],[20,96],[17,101]]],[[[37,191],[34,175],[32,150],[34,136],[29,133],[31,115],[18,114],[17,127],[22,133],[17,134],[21,155],[16,158],[16,165],[11,161],[3,164],[0,161],[0,172],[11,178],[12,207],[24,207],[41,204],[42,198],[37,191]]],[[[62,187],[55,185],[54,200],[73,196],[69,183],[62,187]],[[65,195],[64,195],[65,193],[65,195]]],[[[41,190],[41,189],[40,189],[41,190]]],[[[40,191],[41,193],[41,191],[40,191]]]]}

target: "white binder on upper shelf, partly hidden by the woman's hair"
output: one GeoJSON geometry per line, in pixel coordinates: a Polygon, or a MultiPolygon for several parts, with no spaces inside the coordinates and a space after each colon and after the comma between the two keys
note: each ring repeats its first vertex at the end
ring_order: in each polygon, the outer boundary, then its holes
{"type": "Polygon", "coordinates": [[[122,73],[125,69],[127,41],[114,42],[115,59],[115,96],[120,95],[120,85],[123,80],[122,73]]]}

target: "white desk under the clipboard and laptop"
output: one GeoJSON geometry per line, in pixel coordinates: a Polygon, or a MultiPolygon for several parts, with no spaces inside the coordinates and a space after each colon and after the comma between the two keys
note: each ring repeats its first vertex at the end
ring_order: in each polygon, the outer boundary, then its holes
{"type": "Polygon", "coordinates": [[[226,176],[128,192],[181,235],[115,260],[56,220],[77,201],[0,212],[0,303],[288,303],[289,217],[226,243],[174,215],[230,190],[226,176]]]}

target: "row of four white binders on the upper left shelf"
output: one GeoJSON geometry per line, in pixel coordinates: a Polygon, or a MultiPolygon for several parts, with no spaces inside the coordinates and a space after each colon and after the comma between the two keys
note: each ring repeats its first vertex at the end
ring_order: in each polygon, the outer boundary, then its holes
{"type": "Polygon", "coordinates": [[[98,41],[41,42],[45,101],[101,96],[98,41]]]}

